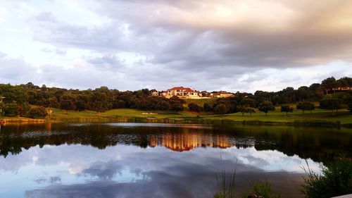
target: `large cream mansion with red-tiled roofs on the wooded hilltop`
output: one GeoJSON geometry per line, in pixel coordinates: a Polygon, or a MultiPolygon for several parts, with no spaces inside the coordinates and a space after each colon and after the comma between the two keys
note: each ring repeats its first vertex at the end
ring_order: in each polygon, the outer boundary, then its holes
{"type": "Polygon", "coordinates": [[[220,92],[199,92],[191,87],[172,87],[166,91],[157,91],[156,89],[151,90],[151,95],[154,97],[180,97],[182,99],[204,99],[204,98],[226,98],[234,97],[234,94],[230,92],[220,91],[220,92]]]}

